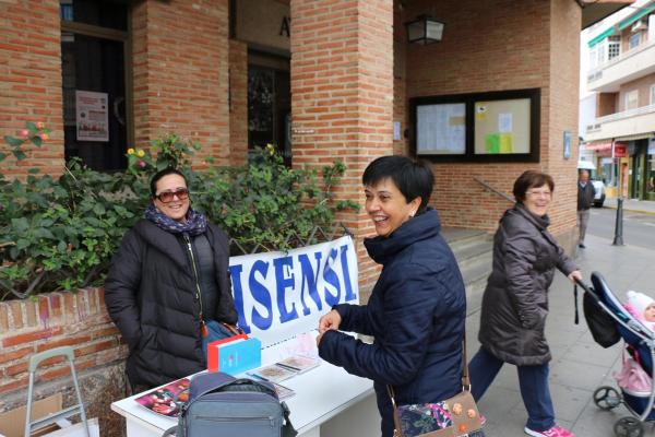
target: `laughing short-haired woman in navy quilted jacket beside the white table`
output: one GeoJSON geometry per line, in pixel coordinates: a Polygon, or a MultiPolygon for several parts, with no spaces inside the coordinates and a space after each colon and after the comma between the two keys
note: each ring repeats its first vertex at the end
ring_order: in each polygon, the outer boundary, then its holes
{"type": "Polygon", "coordinates": [[[433,180],[427,165],[405,156],[369,164],[366,211],[378,236],[364,244],[382,272],[367,305],[336,305],[319,322],[320,356],[374,381],[383,437],[394,429],[388,385],[398,404],[439,402],[462,390],[466,296],[437,211],[427,206],[433,180]]]}

